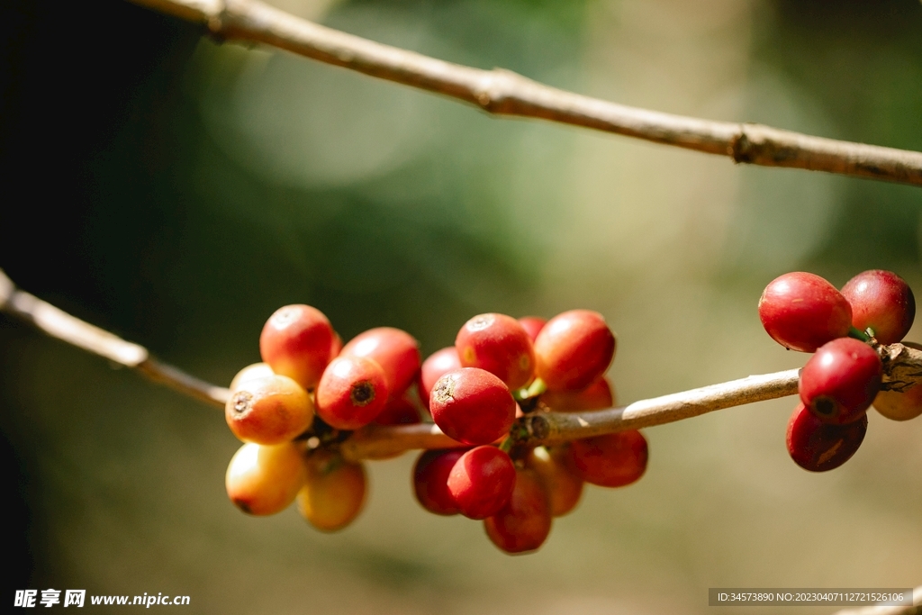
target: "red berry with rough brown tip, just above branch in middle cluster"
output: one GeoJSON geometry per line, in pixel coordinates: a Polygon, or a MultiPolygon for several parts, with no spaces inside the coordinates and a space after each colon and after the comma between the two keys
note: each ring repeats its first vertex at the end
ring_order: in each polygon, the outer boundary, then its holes
{"type": "Polygon", "coordinates": [[[502,380],[476,367],[444,374],[429,398],[432,420],[464,444],[490,444],[509,432],[515,400],[502,380]]]}

